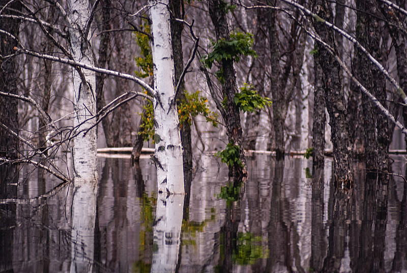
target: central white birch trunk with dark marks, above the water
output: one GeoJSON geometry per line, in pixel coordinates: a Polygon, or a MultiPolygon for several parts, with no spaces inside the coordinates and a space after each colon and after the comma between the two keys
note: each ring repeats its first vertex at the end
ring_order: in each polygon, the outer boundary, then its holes
{"type": "Polygon", "coordinates": [[[154,159],[159,193],[185,194],[182,145],[174,98],[175,69],[172,59],[168,0],[149,1],[154,64],[154,159]]]}

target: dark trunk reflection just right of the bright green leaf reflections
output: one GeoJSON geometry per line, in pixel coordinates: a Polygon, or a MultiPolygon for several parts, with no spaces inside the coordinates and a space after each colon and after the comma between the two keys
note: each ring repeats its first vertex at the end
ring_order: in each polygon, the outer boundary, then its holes
{"type": "Polygon", "coordinates": [[[285,223],[284,215],[289,210],[288,200],[283,190],[284,160],[277,160],[272,185],[270,221],[268,225],[270,257],[266,268],[269,272],[293,272],[290,263],[290,230],[285,223]]]}

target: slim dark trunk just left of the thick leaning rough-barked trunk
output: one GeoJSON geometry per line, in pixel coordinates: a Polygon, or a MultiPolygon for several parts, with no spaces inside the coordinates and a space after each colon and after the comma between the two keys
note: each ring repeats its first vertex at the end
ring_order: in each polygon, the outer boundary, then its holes
{"type": "Polygon", "coordinates": [[[314,115],[312,119],[312,166],[324,166],[325,158],[325,92],[322,87],[323,71],[318,62],[318,56],[314,56],[314,115]]]}

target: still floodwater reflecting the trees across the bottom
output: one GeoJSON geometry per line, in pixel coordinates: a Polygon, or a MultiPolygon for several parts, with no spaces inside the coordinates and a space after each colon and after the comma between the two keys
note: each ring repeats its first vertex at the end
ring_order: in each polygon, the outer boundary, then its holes
{"type": "MultiPolygon", "coordinates": [[[[393,159],[392,172],[404,175],[405,158],[393,159]]],[[[157,201],[148,158],[132,167],[99,157],[96,187],[68,185],[41,199],[59,181],[22,168],[17,199],[31,199],[0,203],[0,272],[407,272],[403,178],[366,178],[356,162],[355,185],[344,191],[331,181],[330,159],[312,173],[312,160],[256,155],[247,182],[228,185],[217,159],[198,165],[178,233],[157,233],[177,216],[175,201],[157,201]],[[156,215],[162,203],[165,221],[156,215]]]]}

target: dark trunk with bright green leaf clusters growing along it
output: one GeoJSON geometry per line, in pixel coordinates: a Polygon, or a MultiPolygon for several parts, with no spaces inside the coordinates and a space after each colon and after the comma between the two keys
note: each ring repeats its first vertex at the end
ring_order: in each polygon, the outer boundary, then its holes
{"type": "MultiPolygon", "coordinates": [[[[221,1],[209,1],[209,14],[213,25],[215,26],[216,40],[230,40],[229,30],[227,28],[226,14],[220,7],[221,1]]],[[[229,166],[229,177],[240,179],[247,176],[246,160],[243,151],[242,126],[240,123],[239,107],[235,104],[235,94],[238,92],[236,85],[236,71],[232,60],[222,60],[224,83],[222,84],[222,93],[226,97],[226,110],[223,120],[226,124],[226,134],[229,142],[239,146],[240,160],[243,167],[235,163],[229,166]]],[[[222,112],[221,112],[222,113],[222,112]]]]}

